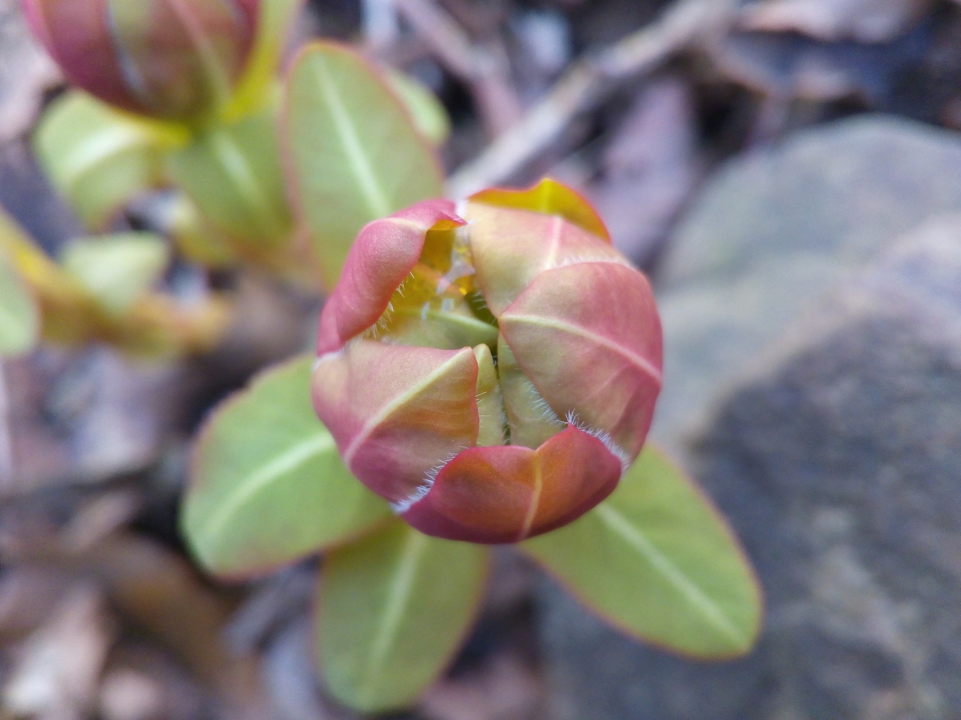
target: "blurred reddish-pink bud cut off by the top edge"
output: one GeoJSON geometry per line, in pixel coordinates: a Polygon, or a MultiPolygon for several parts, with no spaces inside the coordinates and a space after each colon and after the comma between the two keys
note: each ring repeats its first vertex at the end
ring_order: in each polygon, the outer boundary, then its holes
{"type": "Polygon", "coordinates": [[[73,84],[106,103],[190,120],[225,103],[249,59],[259,0],[23,0],[73,84]]]}

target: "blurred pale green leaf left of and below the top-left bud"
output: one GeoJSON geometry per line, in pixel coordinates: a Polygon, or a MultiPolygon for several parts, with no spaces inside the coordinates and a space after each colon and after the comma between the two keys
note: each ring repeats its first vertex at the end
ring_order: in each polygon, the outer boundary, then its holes
{"type": "Polygon", "coordinates": [[[105,228],[124,205],[165,181],[163,156],[185,128],[114,110],[79,90],[51,104],[34,135],[47,176],[87,228],[105,228]]]}

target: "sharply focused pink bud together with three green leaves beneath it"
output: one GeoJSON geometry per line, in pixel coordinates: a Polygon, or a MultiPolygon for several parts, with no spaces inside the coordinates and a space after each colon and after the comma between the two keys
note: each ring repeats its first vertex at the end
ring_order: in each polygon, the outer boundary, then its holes
{"type": "Polygon", "coordinates": [[[212,414],[183,527],[226,577],[324,553],[317,662],[341,702],[416,702],[477,616],[490,543],[633,636],[702,659],[751,648],[750,565],[645,444],[650,288],[573,191],[547,180],[368,225],[318,350],[212,414]]]}

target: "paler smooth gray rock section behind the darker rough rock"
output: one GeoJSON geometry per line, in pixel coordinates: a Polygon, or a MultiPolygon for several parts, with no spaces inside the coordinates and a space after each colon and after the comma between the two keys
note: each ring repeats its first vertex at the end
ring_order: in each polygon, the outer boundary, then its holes
{"type": "Polygon", "coordinates": [[[725,382],[899,235],[961,211],[961,138],[857,117],[739,158],[685,218],[660,274],[666,367],[653,437],[676,445],[725,382]]]}

